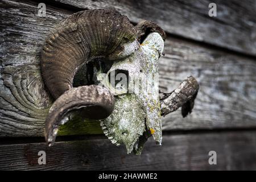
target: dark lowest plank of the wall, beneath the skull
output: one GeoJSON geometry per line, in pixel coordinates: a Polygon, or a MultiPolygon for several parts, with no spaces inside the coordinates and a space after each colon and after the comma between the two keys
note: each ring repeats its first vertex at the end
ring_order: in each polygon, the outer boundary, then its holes
{"type": "Polygon", "coordinates": [[[255,131],[164,135],[163,145],[146,143],[142,155],[127,155],[107,139],[0,145],[1,170],[255,170],[255,131]],[[46,165],[38,152],[46,152],[46,165]],[[216,151],[217,165],[209,165],[216,151]]]}

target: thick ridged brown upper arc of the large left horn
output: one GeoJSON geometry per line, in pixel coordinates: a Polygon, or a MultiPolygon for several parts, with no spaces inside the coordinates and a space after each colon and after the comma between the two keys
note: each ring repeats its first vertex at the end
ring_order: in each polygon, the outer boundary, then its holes
{"type": "Polygon", "coordinates": [[[115,10],[86,10],[65,19],[50,34],[42,51],[42,76],[56,99],[72,88],[77,69],[93,57],[108,56],[135,40],[135,28],[115,10]],[[64,77],[63,77],[64,76],[64,77]],[[54,85],[65,82],[62,87],[54,85]]]}

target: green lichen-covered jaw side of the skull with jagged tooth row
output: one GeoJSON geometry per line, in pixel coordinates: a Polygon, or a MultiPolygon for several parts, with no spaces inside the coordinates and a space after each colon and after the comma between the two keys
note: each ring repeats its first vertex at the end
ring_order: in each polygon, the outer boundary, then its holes
{"type": "Polygon", "coordinates": [[[134,144],[145,131],[145,113],[135,94],[123,94],[115,98],[115,108],[102,125],[112,143],[123,143],[127,153],[133,151],[134,144]]]}

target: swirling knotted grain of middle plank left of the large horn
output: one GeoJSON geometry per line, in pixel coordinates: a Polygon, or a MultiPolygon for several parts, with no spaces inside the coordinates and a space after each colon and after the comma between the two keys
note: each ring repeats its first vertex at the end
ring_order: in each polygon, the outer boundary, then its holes
{"type": "MultiPolygon", "coordinates": [[[[0,136],[43,136],[52,99],[40,75],[40,53],[49,32],[67,14],[48,10],[47,17],[40,18],[35,6],[10,1],[0,5],[0,136]]],[[[75,121],[78,133],[102,133],[99,123],[90,121],[81,126],[78,121],[81,119],[75,121]]],[[[59,134],[73,131],[73,125],[67,123],[59,134]]]]}

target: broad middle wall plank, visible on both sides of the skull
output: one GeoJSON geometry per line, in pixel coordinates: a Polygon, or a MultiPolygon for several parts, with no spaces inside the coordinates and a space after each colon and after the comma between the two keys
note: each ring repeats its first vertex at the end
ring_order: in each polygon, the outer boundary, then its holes
{"type": "MultiPolygon", "coordinates": [[[[40,52],[49,32],[67,14],[19,2],[1,2],[0,136],[43,136],[52,104],[40,76],[40,52]],[[23,90],[23,91],[22,91],[23,90]]],[[[256,126],[255,59],[167,38],[159,60],[159,85],[174,90],[187,76],[200,84],[194,110],[182,119],[180,110],[163,118],[163,130],[218,129],[256,126]]],[[[81,121],[81,120],[80,120],[81,121]]],[[[94,121],[68,122],[61,135],[99,134],[94,121]]]]}

